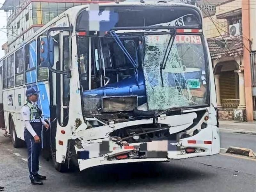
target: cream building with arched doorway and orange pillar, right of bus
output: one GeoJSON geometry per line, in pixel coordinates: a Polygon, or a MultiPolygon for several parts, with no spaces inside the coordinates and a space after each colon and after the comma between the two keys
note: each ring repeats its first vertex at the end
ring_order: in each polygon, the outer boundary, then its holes
{"type": "Polygon", "coordinates": [[[255,1],[198,1],[198,6],[204,13],[203,30],[212,58],[219,118],[252,121],[255,119],[255,1]],[[209,5],[215,10],[209,11],[209,5]]]}

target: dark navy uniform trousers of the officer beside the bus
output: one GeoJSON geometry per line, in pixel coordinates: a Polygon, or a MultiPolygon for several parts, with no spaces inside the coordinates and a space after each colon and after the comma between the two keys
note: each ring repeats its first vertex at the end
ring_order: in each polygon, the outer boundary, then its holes
{"type": "Polygon", "coordinates": [[[35,143],[34,137],[28,132],[27,129],[24,131],[24,139],[28,147],[28,170],[29,178],[35,179],[34,175],[37,174],[39,170],[39,156],[41,152],[41,134],[42,134],[42,123],[30,123],[36,134],[40,137],[40,143],[35,143]]]}

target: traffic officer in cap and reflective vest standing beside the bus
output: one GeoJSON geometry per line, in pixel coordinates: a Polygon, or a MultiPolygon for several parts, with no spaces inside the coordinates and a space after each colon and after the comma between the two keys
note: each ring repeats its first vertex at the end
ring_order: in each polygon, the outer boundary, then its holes
{"type": "Polygon", "coordinates": [[[49,125],[42,119],[42,111],[36,105],[37,93],[40,91],[30,87],[26,91],[27,101],[21,108],[21,115],[25,125],[24,139],[28,147],[28,170],[31,184],[42,185],[46,177],[39,175],[39,155],[41,151],[42,126],[49,125]]]}

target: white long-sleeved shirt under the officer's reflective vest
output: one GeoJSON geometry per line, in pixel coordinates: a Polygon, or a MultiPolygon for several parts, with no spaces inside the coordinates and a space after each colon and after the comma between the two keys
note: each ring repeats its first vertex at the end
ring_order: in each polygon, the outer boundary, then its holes
{"type": "MultiPolygon", "coordinates": [[[[32,103],[33,106],[36,106],[34,102],[31,101],[31,103],[32,103]]],[[[24,122],[24,125],[25,125],[26,129],[28,130],[28,132],[30,132],[30,134],[33,137],[35,137],[37,134],[34,131],[31,124],[29,123],[29,121],[30,121],[30,110],[29,110],[29,107],[27,105],[24,105],[21,108],[21,116],[22,116],[22,119],[23,119],[23,122],[24,122]]],[[[43,125],[47,124],[42,118],[41,118],[41,122],[42,122],[43,125]]]]}

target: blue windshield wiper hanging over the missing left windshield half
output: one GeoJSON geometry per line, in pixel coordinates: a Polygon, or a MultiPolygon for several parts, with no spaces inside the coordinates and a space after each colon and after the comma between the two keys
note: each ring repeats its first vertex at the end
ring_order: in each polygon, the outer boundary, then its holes
{"type": "MultiPolygon", "coordinates": [[[[131,54],[127,51],[127,49],[124,47],[124,44],[122,43],[122,41],[120,40],[120,38],[116,35],[115,31],[109,31],[110,35],[115,39],[116,43],[118,44],[118,46],[121,48],[121,50],[124,52],[124,54],[126,55],[126,57],[129,59],[129,61],[132,63],[132,66],[134,68],[134,75],[137,81],[137,85],[139,87],[139,76],[138,76],[138,65],[136,64],[136,61],[133,60],[131,54]]],[[[136,52],[137,54],[137,52],[136,52]]]]}

